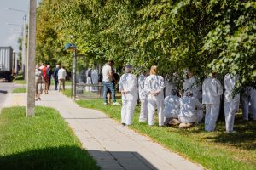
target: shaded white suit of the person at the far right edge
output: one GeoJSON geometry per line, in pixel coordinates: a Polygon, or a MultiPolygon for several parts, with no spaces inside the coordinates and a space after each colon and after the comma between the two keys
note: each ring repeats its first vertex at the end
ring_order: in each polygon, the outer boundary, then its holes
{"type": "Polygon", "coordinates": [[[247,86],[245,93],[242,95],[242,118],[249,120],[249,112],[253,115],[253,120],[256,120],[256,89],[247,86]]]}

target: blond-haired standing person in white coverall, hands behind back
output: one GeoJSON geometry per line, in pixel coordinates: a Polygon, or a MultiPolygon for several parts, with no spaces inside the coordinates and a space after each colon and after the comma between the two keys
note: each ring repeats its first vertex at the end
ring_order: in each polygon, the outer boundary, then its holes
{"type": "Polygon", "coordinates": [[[145,91],[148,94],[148,125],[154,125],[154,110],[157,108],[159,126],[164,126],[164,78],[157,75],[157,66],[150,69],[150,76],[145,80],[145,91]]]}

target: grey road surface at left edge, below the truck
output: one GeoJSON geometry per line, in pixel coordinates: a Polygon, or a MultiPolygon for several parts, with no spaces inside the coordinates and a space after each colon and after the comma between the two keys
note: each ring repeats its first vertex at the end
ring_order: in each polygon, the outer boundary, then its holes
{"type": "Polygon", "coordinates": [[[26,85],[15,84],[13,82],[0,82],[0,108],[2,108],[8,94],[11,93],[14,88],[22,88],[25,86],[26,85]]]}

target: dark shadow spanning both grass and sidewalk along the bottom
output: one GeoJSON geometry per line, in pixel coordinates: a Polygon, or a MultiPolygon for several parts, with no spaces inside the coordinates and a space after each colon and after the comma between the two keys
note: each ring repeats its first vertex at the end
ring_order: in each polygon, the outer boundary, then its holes
{"type": "MultiPolygon", "coordinates": [[[[88,150],[102,169],[157,169],[137,152],[88,150]]],[[[27,150],[0,156],[1,170],[97,170],[96,162],[75,146],[27,150]]]]}

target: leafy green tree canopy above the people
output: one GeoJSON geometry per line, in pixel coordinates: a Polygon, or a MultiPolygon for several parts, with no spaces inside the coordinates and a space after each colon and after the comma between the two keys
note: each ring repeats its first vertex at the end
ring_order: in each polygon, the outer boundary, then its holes
{"type": "Polygon", "coordinates": [[[256,82],[256,3],[249,0],[43,0],[38,7],[37,59],[71,67],[113,59],[160,73],[190,68],[239,74],[256,82]]]}

